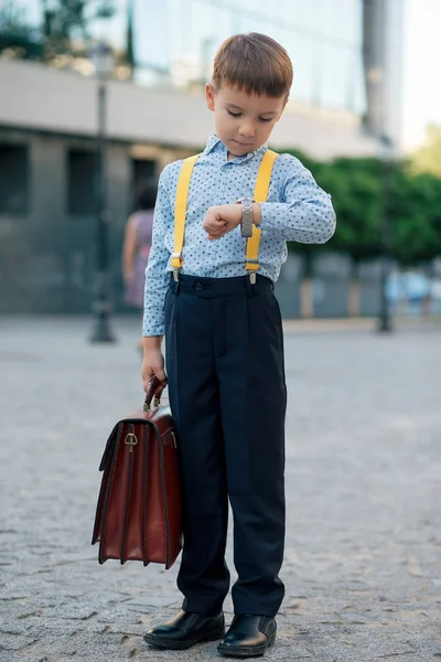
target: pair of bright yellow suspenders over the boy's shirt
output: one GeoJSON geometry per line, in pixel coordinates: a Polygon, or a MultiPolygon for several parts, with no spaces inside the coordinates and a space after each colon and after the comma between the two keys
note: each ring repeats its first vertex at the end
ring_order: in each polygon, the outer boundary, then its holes
{"type": "MultiPolygon", "coordinates": [[[[184,159],[181,172],[178,179],[176,188],[176,200],[174,203],[174,247],[171,258],[171,265],[174,271],[174,278],[178,280],[178,275],[182,268],[182,248],[184,246],[184,232],[185,232],[185,216],[186,216],[186,204],[189,200],[190,181],[192,179],[192,172],[195,162],[200,154],[189,157],[184,159]]],[[[256,188],[255,188],[255,201],[265,202],[268,197],[269,184],[271,181],[272,167],[278,154],[270,149],[267,150],[260,162],[259,171],[257,173],[256,188]]],[[[246,270],[250,275],[252,281],[256,279],[256,271],[259,268],[259,245],[260,245],[261,229],[252,226],[252,236],[247,239],[247,257],[246,257],[246,270]]]]}

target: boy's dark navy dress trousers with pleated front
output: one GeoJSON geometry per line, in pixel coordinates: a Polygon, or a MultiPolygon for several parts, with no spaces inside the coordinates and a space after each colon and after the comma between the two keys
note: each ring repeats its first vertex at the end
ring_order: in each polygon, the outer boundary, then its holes
{"type": "Polygon", "coordinates": [[[262,276],[171,279],[165,363],[183,483],[185,611],[222,609],[228,498],[234,516],[236,613],[276,616],[284,587],[283,335],[262,276]]]}

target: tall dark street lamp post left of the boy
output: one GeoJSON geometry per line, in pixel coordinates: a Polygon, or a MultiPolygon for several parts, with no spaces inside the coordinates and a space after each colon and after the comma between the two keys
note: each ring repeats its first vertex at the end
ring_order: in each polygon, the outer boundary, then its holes
{"type": "Polygon", "coordinates": [[[98,44],[92,52],[98,79],[98,132],[96,158],[96,290],[93,303],[94,330],[90,342],[115,342],[109,329],[111,302],[109,298],[109,249],[106,192],[106,82],[114,68],[114,55],[106,44],[98,44]]]}

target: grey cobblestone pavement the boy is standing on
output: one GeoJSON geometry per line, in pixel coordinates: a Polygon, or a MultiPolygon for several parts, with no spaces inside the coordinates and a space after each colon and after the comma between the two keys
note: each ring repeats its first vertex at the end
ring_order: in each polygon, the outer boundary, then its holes
{"type": "MultiPolygon", "coordinates": [[[[178,566],[99,566],[90,546],[107,433],[142,399],[138,328],[93,346],[90,320],[1,320],[1,662],[217,659],[142,642],[180,606],[178,566]]],[[[287,594],[266,659],[440,661],[441,333],[303,329],[286,335],[287,594]]]]}

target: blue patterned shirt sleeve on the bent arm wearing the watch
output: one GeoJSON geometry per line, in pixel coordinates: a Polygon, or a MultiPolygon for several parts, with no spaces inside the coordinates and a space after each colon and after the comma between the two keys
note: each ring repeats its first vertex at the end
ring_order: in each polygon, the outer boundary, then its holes
{"type": "Polygon", "coordinates": [[[279,159],[284,170],[282,202],[260,203],[260,227],[281,232],[287,242],[325,244],[336,223],[331,195],[318,185],[299,159],[291,154],[281,154],[279,159]]]}

